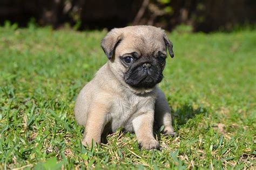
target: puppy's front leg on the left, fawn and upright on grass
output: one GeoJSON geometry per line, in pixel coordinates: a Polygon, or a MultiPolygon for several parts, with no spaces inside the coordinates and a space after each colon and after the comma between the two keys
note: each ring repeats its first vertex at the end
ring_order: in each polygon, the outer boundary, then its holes
{"type": "Polygon", "coordinates": [[[106,125],[106,113],[107,107],[102,104],[97,104],[97,106],[92,107],[88,114],[84,139],[82,144],[84,146],[91,146],[92,139],[94,144],[100,144],[100,137],[106,125]]]}

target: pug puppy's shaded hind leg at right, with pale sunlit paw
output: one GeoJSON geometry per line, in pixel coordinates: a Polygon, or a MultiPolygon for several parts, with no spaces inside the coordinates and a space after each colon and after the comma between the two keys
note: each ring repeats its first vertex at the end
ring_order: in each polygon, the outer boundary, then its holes
{"type": "Polygon", "coordinates": [[[164,135],[171,135],[173,137],[176,134],[172,127],[171,109],[165,99],[164,93],[160,89],[158,89],[158,97],[154,108],[154,121],[157,127],[164,125],[162,132],[164,135]]]}

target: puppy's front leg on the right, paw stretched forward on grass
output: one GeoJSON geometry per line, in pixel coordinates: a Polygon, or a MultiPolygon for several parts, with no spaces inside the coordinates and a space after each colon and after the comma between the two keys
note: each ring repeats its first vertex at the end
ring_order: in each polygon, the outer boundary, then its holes
{"type": "Polygon", "coordinates": [[[139,147],[145,149],[159,148],[159,143],[153,136],[154,111],[138,115],[132,120],[132,126],[137,136],[139,147]]]}

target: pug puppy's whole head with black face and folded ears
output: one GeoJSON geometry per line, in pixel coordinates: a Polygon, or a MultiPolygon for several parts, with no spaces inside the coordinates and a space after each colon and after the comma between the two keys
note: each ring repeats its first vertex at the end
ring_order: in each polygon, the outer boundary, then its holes
{"type": "Polygon", "coordinates": [[[101,45],[114,75],[135,89],[152,89],[158,84],[163,79],[166,49],[174,56],[164,30],[154,26],[113,29],[101,45]]]}

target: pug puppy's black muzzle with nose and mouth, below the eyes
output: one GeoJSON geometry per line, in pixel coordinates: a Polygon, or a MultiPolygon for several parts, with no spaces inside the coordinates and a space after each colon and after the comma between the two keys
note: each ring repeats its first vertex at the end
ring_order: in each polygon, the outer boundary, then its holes
{"type": "Polygon", "coordinates": [[[145,67],[140,65],[127,71],[124,75],[125,82],[132,87],[150,89],[163,79],[163,73],[157,66],[145,67]]]}

